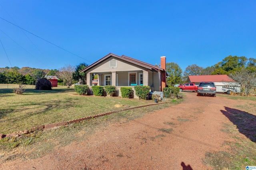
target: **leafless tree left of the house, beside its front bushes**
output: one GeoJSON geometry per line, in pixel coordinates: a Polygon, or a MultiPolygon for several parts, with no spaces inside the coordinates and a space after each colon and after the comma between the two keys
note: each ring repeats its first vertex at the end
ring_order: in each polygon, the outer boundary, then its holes
{"type": "Polygon", "coordinates": [[[70,64],[68,64],[60,68],[57,72],[58,77],[66,83],[67,88],[69,88],[72,85],[74,70],[75,66],[71,66],[70,64]]]}

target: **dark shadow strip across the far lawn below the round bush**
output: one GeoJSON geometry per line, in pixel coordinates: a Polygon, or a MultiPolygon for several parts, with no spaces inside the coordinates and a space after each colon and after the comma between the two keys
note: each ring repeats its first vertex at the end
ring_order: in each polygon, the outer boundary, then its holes
{"type": "MultiPolygon", "coordinates": [[[[72,92],[75,90],[72,88],[66,88],[66,89],[52,89],[52,90],[36,90],[36,89],[26,89],[23,95],[31,95],[31,94],[40,94],[40,93],[67,93],[72,92]]],[[[10,88],[2,88],[0,89],[0,96],[6,96],[1,94],[13,94],[12,89],[10,88]]]]}

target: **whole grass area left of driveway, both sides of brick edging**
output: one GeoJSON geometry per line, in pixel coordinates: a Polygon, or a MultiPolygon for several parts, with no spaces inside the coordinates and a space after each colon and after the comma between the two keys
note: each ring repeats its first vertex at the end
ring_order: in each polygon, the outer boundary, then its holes
{"type": "MultiPolygon", "coordinates": [[[[38,125],[69,121],[126,107],[142,106],[154,103],[152,100],[122,99],[120,97],[78,96],[74,86],[53,88],[50,91],[34,90],[26,86],[23,95],[12,93],[17,84],[0,84],[0,133],[30,129],[38,125]]],[[[0,140],[1,161],[14,160],[20,155],[38,158],[55,147],[66,146],[73,141],[83,141],[93,135],[97,129],[108,127],[113,122],[125,123],[140,118],[150,111],[162,109],[180,103],[172,100],[165,104],[120,111],[112,115],[90,119],[69,126],[35,131],[20,137],[6,137],[0,140]],[[3,156],[4,155],[4,156],[3,156]]]]}

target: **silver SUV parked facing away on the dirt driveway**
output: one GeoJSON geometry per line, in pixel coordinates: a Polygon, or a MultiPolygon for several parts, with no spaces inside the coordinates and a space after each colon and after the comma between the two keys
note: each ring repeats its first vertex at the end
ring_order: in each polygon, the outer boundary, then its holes
{"type": "Polygon", "coordinates": [[[215,86],[214,82],[200,82],[200,84],[198,86],[197,94],[198,94],[198,96],[210,94],[210,95],[216,97],[216,86],[215,86]]]}

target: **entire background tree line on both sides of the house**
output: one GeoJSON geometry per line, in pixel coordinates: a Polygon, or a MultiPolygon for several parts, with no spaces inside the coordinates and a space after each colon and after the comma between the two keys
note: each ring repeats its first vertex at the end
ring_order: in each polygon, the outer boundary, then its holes
{"type": "MultiPolygon", "coordinates": [[[[80,73],[80,70],[86,68],[88,64],[80,63],[77,66],[66,65],[60,69],[43,70],[30,67],[5,67],[0,68],[0,83],[9,84],[35,84],[39,78],[46,75],[57,76],[60,78],[58,83],[65,83],[69,88],[73,83],[80,82],[86,84],[86,73],[80,73]]],[[[188,81],[189,75],[214,75],[227,74],[233,78],[241,86],[250,84],[250,88],[256,86],[256,59],[238,56],[225,57],[221,62],[208,66],[200,67],[192,64],[186,67],[184,71],[177,63],[166,63],[166,71],[168,73],[167,85],[183,84],[188,81]]]]}

